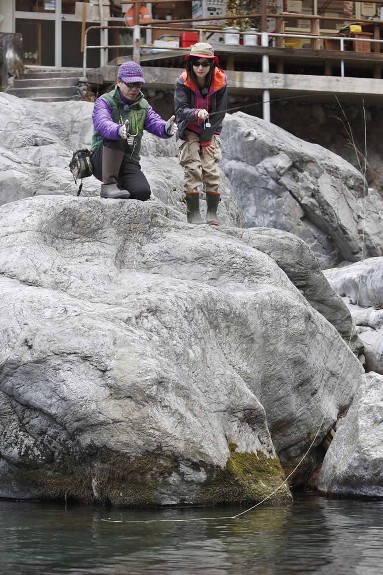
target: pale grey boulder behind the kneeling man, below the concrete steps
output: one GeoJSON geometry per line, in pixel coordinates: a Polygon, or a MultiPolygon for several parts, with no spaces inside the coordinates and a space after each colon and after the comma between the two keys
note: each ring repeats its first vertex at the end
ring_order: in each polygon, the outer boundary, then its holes
{"type": "MultiPolygon", "coordinates": [[[[72,152],[89,147],[93,132],[91,102],[35,102],[0,93],[0,205],[29,196],[74,196],[75,185],[68,164],[72,152]]],[[[174,217],[186,221],[183,168],[179,166],[174,138],[160,139],[145,133],[141,167],[152,193],[174,217]]],[[[222,174],[220,220],[243,227],[244,215],[228,179],[222,174]]],[[[83,181],[82,196],[99,196],[101,182],[93,176],[83,181]]],[[[206,213],[201,194],[201,213],[206,213]]]]}

